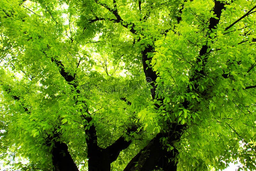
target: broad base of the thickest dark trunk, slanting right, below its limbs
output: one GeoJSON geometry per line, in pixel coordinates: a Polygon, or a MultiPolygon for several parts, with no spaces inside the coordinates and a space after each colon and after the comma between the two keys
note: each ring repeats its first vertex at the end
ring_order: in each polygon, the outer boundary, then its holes
{"type": "Polygon", "coordinates": [[[146,147],[144,147],[125,167],[124,171],[148,171],[162,168],[166,171],[176,171],[177,163],[175,159],[178,150],[174,148],[167,152],[163,148],[162,137],[169,139],[169,143],[173,146],[173,142],[180,140],[183,125],[172,125],[172,132],[158,133],[146,147]]]}

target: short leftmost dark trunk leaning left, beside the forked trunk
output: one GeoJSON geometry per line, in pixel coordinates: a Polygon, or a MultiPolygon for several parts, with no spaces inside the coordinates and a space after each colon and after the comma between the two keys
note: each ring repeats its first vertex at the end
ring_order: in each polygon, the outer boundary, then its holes
{"type": "Polygon", "coordinates": [[[79,171],[68,152],[68,145],[56,142],[52,149],[52,163],[55,171],[79,171]]]}

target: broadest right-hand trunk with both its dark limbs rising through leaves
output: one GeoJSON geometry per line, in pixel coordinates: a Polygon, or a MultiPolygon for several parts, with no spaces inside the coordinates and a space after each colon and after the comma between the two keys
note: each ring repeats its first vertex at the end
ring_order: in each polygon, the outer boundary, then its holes
{"type": "MultiPolygon", "coordinates": [[[[219,23],[220,20],[220,15],[222,12],[222,9],[224,9],[224,4],[221,3],[220,1],[215,1],[215,5],[213,8],[214,14],[216,14],[215,18],[210,19],[210,24],[209,24],[209,30],[212,31],[217,24],[219,23]]],[[[182,12],[182,11],[180,11],[182,12]]],[[[179,18],[178,22],[180,22],[181,18],[179,18]]],[[[197,58],[196,63],[199,64],[202,62],[202,67],[205,67],[205,64],[207,63],[207,49],[209,47],[207,45],[204,45],[200,52],[199,56],[197,58]]],[[[143,50],[142,53],[142,64],[143,64],[143,69],[144,73],[146,76],[146,79],[150,78],[152,81],[152,89],[151,89],[151,95],[152,99],[156,98],[156,86],[155,86],[155,81],[157,78],[156,72],[152,71],[152,68],[149,64],[146,63],[148,60],[150,63],[150,60],[148,58],[148,53],[153,52],[154,48],[152,46],[148,46],[143,50]]],[[[204,76],[204,70],[195,72],[191,78],[190,81],[195,81],[200,79],[200,77],[204,76]]],[[[188,88],[188,92],[189,92],[188,88]]],[[[159,99],[160,101],[163,101],[162,99],[159,99]]],[[[187,108],[188,107],[188,102],[185,101],[182,103],[182,105],[187,108]]],[[[158,107],[158,105],[156,105],[158,107]]],[[[173,146],[174,141],[179,141],[181,137],[181,133],[183,128],[186,127],[186,125],[176,125],[175,123],[171,124],[169,133],[158,133],[155,138],[153,138],[146,147],[144,147],[130,162],[129,164],[125,167],[124,171],[135,171],[135,170],[153,170],[156,168],[162,168],[163,170],[171,170],[171,171],[176,171],[177,170],[177,163],[175,163],[175,157],[178,154],[178,150],[174,148],[172,152],[167,152],[166,149],[162,148],[162,143],[161,143],[161,138],[162,137],[168,137],[169,139],[169,144],[173,146]],[[170,160],[170,161],[169,161],[170,160]]]]}

